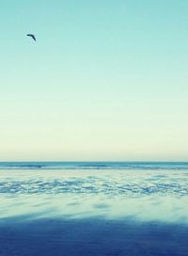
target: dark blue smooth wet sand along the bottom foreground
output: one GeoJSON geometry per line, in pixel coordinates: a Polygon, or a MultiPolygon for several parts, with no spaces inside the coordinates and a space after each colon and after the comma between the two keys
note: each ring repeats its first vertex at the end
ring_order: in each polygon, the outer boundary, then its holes
{"type": "Polygon", "coordinates": [[[2,219],[1,256],[188,255],[188,227],[133,219],[2,219]]]}

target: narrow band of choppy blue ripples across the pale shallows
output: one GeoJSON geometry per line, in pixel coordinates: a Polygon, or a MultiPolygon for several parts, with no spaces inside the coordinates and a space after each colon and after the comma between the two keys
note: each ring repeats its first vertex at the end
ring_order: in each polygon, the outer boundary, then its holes
{"type": "Polygon", "coordinates": [[[75,180],[75,181],[15,181],[0,182],[0,194],[104,194],[109,196],[132,196],[138,195],[173,195],[188,196],[186,184],[166,183],[130,183],[119,184],[100,180],[75,180]]]}

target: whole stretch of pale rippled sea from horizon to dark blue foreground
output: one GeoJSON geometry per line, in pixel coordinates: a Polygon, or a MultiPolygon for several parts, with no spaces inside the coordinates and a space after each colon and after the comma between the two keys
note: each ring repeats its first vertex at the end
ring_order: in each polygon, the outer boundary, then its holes
{"type": "Polygon", "coordinates": [[[188,224],[188,163],[2,162],[0,218],[188,224]]]}

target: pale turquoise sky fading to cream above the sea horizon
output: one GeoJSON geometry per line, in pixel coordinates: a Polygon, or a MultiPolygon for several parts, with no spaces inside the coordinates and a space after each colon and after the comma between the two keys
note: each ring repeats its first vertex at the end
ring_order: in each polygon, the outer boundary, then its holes
{"type": "Polygon", "coordinates": [[[188,161],[187,11],[2,0],[0,161],[188,161]]]}

